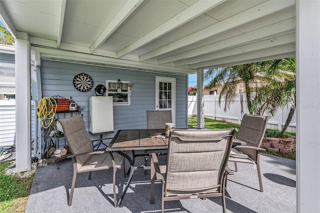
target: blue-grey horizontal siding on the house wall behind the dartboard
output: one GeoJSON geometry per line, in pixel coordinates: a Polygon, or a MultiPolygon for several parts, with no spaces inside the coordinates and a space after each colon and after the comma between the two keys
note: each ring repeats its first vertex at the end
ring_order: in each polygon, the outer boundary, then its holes
{"type": "MultiPolygon", "coordinates": [[[[131,89],[130,105],[113,106],[114,132],[103,135],[113,136],[118,129],[146,128],[146,110],[155,109],[155,76],[176,78],[176,128],[186,128],[187,117],[187,76],[165,73],[146,72],[105,66],[70,63],[63,61],[41,61],[42,95],[61,95],[72,97],[83,108],[83,120],[88,130],[88,98],[94,96],[94,87],[105,85],[105,80],[130,81],[134,84],[131,89]],[[86,73],[93,79],[93,87],[87,92],[80,92],[73,86],[73,77],[78,73],[86,73]]],[[[57,114],[60,116],[60,114],[57,114]]],[[[64,116],[64,114],[62,115],[64,116]]],[[[69,116],[69,114],[66,114],[69,116]]],[[[91,139],[98,138],[97,135],[91,139]]]]}

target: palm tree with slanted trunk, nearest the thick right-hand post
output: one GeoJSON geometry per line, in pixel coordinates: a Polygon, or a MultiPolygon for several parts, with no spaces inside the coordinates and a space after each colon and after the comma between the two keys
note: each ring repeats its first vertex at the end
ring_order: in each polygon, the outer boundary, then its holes
{"type": "Polygon", "coordinates": [[[259,88],[253,111],[273,116],[277,109],[289,105],[289,114],[279,133],[282,136],[295,111],[295,57],[267,61],[266,65],[268,69],[263,72],[266,83],[259,88]]]}

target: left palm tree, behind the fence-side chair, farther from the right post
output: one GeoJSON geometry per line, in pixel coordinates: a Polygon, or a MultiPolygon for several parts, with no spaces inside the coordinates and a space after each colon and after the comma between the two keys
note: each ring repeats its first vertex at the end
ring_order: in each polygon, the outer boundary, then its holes
{"type": "Polygon", "coordinates": [[[212,78],[208,83],[209,88],[214,88],[217,84],[223,83],[218,104],[220,106],[221,98],[224,97],[224,111],[226,111],[230,103],[233,103],[235,98],[238,97],[239,88],[241,88],[246,95],[246,106],[250,113],[252,112],[252,101],[256,98],[254,91],[257,91],[262,79],[261,76],[258,75],[261,66],[263,66],[262,63],[249,63],[208,69],[205,72],[204,78],[206,80],[212,78]]]}

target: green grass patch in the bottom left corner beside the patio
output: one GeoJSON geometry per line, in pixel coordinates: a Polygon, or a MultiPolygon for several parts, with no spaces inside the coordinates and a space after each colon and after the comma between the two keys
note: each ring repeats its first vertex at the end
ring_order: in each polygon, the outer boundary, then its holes
{"type": "Polygon", "coordinates": [[[5,174],[12,161],[0,162],[0,212],[24,212],[34,173],[5,174]]]}

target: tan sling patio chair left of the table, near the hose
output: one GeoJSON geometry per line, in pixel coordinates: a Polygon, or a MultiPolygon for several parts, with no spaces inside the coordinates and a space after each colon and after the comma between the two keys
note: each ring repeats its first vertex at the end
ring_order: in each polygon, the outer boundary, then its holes
{"type": "Polygon", "coordinates": [[[73,163],[73,177],[68,205],[71,205],[72,202],[77,173],[89,172],[88,179],[91,179],[92,171],[113,168],[113,200],[114,207],[116,207],[115,172],[118,168],[121,168],[123,156],[107,151],[94,151],[83,120],[79,115],[58,120],[72,153],[72,155],[67,156],[72,158],[73,163]]]}

